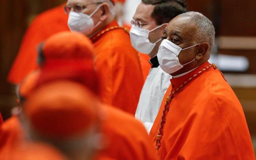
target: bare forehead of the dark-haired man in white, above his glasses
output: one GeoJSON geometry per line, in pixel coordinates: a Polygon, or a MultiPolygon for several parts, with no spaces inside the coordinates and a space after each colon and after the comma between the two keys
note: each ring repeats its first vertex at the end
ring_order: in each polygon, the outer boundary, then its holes
{"type": "Polygon", "coordinates": [[[154,5],[146,5],[144,3],[140,3],[136,9],[136,12],[134,13],[133,19],[135,21],[155,21],[152,17],[151,17],[151,13],[154,10],[154,5]]]}

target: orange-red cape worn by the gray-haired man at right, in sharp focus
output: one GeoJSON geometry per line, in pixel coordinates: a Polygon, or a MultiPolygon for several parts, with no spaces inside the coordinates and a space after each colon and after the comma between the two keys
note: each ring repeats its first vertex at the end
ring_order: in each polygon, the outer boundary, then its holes
{"type": "Polygon", "coordinates": [[[243,108],[216,66],[206,62],[171,85],[166,95],[176,93],[149,134],[160,160],[255,160],[243,108]]]}

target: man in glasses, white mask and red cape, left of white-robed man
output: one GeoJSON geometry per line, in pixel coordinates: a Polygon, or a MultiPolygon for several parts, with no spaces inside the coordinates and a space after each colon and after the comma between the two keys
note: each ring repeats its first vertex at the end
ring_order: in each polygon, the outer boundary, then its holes
{"type": "Polygon", "coordinates": [[[69,29],[85,34],[94,44],[102,100],[134,114],[143,86],[142,71],[127,29],[114,20],[114,5],[114,0],[68,0],[64,10],[69,29]]]}

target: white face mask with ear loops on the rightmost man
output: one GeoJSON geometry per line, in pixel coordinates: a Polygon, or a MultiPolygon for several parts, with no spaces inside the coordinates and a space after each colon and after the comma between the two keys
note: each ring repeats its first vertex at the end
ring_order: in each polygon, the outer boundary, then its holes
{"type": "MultiPolygon", "coordinates": [[[[192,48],[196,45],[193,45],[188,48],[192,48]]],[[[179,53],[181,52],[181,50],[185,50],[188,48],[182,49],[176,44],[172,43],[171,41],[164,39],[160,44],[158,53],[157,53],[157,59],[159,61],[161,69],[163,69],[166,73],[171,74],[180,70],[184,65],[187,65],[193,62],[195,59],[183,65],[181,65],[179,62],[179,58],[178,58],[179,53]]]]}

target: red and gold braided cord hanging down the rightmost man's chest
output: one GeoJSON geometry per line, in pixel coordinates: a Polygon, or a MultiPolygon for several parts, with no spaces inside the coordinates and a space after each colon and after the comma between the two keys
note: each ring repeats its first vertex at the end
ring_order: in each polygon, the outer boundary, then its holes
{"type": "Polygon", "coordinates": [[[169,112],[169,108],[170,108],[170,103],[171,103],[171,100],[174,96],[174,94],[179,91],[183,86],[185,86],[188,82],[190,82],[191,80],[193,80],[194,78],[196,78],[198,75],[200,75],[202,72],[204,72],[205,70],[211,68],[213,66],[213,69],[216,69],[217,66],[216,64],[210,64],[208,65],[207,67],[203,68],[202,70],[200,70],[197,74],[193,75],[192,77],[190,77],[189,79],[187,79],[182,85],[180,85],[175,91],[171,91],[169,96],[166,97],[166,101],[165,101],[165,107],[164,107],[164,110],[163,110],[163,113],[162,113],[162,117],[161,117],[161,121],[160,121],[160,126],[159,126],[159,130],[158,130],[158,133],[155,137],[156,139],[156,143],[155,143],[155,147],[156,147],[156,150],[158,150],[160,147],[161,147],[161,139],[164,135],[164,132],[163,132],[163,128],[164,128],[164,124],[166,122],[166,115],[167,113],[169,112]]]}

